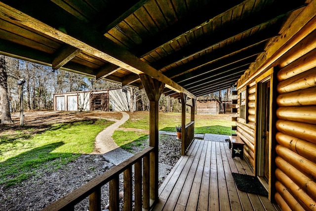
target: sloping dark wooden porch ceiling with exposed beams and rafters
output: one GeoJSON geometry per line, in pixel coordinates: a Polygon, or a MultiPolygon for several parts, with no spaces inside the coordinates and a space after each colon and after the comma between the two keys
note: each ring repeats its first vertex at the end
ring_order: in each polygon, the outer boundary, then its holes
{"type": "Polygon", "coordinates": [[[0,53],[165,95],[234,85],[305,0],[1,0],[0,53]]]}

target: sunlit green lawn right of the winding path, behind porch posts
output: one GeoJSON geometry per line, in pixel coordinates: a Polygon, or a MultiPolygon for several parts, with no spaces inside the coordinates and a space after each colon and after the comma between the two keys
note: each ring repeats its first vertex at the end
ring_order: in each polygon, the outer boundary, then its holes
{"type": "MultiPolygon", "coordinates": [[[[235,133],[231,130],[233,114],[219,115],[195,115],[195,133],[205,134],[224,134],[231,135],[235,133]]],[[[190,122],[190,114],[186,115],[186,124],[190,122]]],[[[175,132],[175,126],[181,125],[181,113],[162,113],[159,112],[159,130],[175,132]]],[[[149,129],[149,112],[137,111],[129,113],[129,120],[120,127],[149,129]]],[[[129,149],[132,145],[140,144],[141,141],[148,138],[147,133],[140,131],[122,131],[116,130],[113,139],[124,149],[129,149]]]]}

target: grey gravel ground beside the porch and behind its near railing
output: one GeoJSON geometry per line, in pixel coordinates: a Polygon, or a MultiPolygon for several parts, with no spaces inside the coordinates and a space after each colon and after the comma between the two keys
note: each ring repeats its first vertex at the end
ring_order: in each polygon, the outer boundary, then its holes
{"type": "MultiPolygon", "coordinates": [[[[147,140],[143,145],[135,146],[129,151],[137,154],[147,147],[148,143],[147,140]]],[[[180,158],[180,152],[181,143],[175,136],[159,136],[159,186],[180,158]]],[[[36,176],[19,185],[11,187],[0,185],[0,210],[39,211],[114,166],[103,155],[90,154],[81,155],[77,160],[59,169],[54,169],[53,165],[37,169],[36,176]]],[[[120,181],[119,191],[122,191],[122,174],[120,181]]],[[[109,203],[108,184],[104,185],[101,191],[102,209],[105,209],[109,203]]],[[[88,199],[80,202],[75,210],[87,211],[88,199]]]]}

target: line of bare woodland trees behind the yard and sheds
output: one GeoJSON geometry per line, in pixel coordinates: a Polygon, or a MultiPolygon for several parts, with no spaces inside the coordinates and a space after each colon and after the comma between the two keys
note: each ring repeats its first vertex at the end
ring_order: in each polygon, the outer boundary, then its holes
{"type": "MultiPolygon", "coordinates": [[[[23,92],[23,107],[25,110],[52,110],[53,93],[88,91],[109,88],[119,88],[120,84],[105,80],[95,80],[77,73],[63,70],[52,70],[51,67],[0,55],[0,111],[2,123],[4,114],[19,111],[20,92],[23,92]],[[24,81],[19,85],[17,81],[24,81]]],[[[144,89],[128,88],[131,102],[136,102],[136,110],[149,109],[149,100],[144,89]]],[[[230,90],[211,93],[197,99],[228,100],[230,90]]],[[[131,107],[132,108],[132,107],[131,107]]],[[[163,112],[180,112],[181,104],[177,99],[161,96],[159,109],[163,112]]],[[[4,118],[5,119],[5,118],[4,118]]],[[[10,118],[8,122],[10,122],[10,118]]]]}

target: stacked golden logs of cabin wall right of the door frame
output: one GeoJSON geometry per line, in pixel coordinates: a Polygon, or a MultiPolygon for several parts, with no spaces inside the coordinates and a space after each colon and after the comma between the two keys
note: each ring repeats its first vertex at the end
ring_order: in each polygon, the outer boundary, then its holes
{"type": "Polygon", "coordinates": [[[275,199],[291,210],[316,210],[315,60],[315,50],[296,59],[289,52],[277,73],[275,199]]]}

